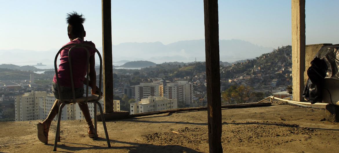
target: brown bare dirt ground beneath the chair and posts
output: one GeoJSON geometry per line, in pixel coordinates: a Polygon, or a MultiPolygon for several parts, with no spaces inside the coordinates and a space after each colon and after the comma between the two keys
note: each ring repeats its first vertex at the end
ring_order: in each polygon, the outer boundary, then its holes
{"type": "MultiPolygon", "coordinates": [[[[339,123],[323,121],[325,110],[273,104],[270,107],[222,110],[224,152],[338,152],[339,123]]],[[[1,122],[0,152],[52,152],[37,138],[39,121],[1,122]]],[[[99,139],[86,135],[85,121],[61,121],[60,152],[208,152],[207,111],[167,113],[101,122],[99,139]],[[175,131],[176,133],[172,132],[175,131]],[[179,133],[179,134],[178,134],[179,133]],[[180,134],[182,133],[182,134],[180,134]]]]}

